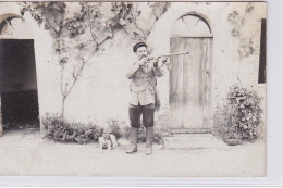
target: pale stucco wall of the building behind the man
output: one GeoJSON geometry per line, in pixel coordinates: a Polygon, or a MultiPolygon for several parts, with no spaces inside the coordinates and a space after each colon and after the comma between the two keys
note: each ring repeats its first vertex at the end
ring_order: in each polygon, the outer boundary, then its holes
{"type": "MultiPolygon", "coordinates": [[[[146,2],[145,2],[146,3],[146,2]]],[[[169,53],[173,23],[182,15],[197,13],[210,24],[213,35],[212,110],[221,105],[229,87],[238,79],[245,86],[257,89],[259,66],[260,21],[266,17],[264,3],[253,3],[254,11],[246,15],[248,3],[234,2],[174,2],[156,23],[147,42],[153,54],[169,53]],[[242,38],[232,36],[235,27],[227,21],[229,14],[238,11],[245,18],[241,26],[242,38]],[[263,12],[263,13],[262,13],[263,12]],[[250,34],[253,33],[253,34],[250,34]],[[238,53],[239,42],[254,35],[255,51],[247,57],[238,53]]],[[[1,12],[1,11],[0,11],[1,12]]],[[[52,38],[38,27],[27,14],[25,18],[34,30],[36,68],[40,115],[61,111],[60,66],[52,52],[52,38]]],[[[94,55],[74,86],[65,103],[65,116],[71,121],[104,122],[108,117],[128,118],[130,80],[125,77],[128,64],[135,60],[132,47],[136,42],[124,30],[115,33],[99,54],[94,55]]],[[[169,73],[158,79],[162,102],[157,118],[165,120],[169,111],[169,73]]],[[[259,89],[264,96],[264,89],[259,89]]]]}

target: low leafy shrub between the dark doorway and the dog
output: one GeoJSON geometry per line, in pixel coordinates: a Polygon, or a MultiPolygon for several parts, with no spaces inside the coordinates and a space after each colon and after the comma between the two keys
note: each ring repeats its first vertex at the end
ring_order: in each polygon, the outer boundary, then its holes
{"type": "Polygon", "coordinates": [[[70,123],[59,115],[47,115],[42,118],[46,137],[63,142],[79,145],[97,141],[102,135],[102,128],[95,124],[70,123]]]}

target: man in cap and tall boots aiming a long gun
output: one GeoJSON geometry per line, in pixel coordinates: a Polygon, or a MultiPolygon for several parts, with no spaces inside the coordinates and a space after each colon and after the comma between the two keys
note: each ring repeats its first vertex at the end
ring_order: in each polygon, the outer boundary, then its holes
{"type": "Polygon", "coordinates": [[[127,78],[131,79],[130,123],[131,123],[131,147],[126,153],[137,152],[138,130],[140,116],[146,127],[146,154],[152,154],[153,121],[156,101],[157,78],[163,76],[161,66],[167,58],[149,58],[147,45],[138,42],[134,46],[138,61],[131,65],[127,78]]]}

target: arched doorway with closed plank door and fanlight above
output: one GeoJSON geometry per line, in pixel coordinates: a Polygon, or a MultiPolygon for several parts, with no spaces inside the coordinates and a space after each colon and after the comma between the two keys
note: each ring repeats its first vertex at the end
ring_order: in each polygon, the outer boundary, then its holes
{"type": "Polygon", "coordinates": [[[212,34],[208,22],[197,14],[181,16],[173,25],[171,53],[170,112],[172,127],[186,133],[211,131],[212,34]]]}

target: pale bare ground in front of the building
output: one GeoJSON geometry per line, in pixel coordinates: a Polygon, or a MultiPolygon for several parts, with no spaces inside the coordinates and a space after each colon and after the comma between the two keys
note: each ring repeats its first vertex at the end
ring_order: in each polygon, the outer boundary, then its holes
{"type": "Polygon", "coordinates": [[[9,131],[0,138],[0,175],[212,177],[266,172],[263,139],[229,147],[211,135],[175,136],[165,140],[165,149],[155,145],[149,156],[144,143],[138,153],[125,154],[128,141],[120,142],[101,153],[97,143],[60,143],[39,131],[9,131]]]}

